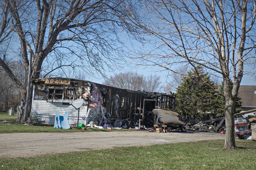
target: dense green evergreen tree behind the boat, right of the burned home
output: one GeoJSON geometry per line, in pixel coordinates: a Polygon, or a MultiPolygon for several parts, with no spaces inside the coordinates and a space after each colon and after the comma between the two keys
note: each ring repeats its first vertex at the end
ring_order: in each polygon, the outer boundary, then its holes
{"type": "MultiPolygon", "coordinates": [[[[202,67],[197,67],[197,71],[204,81],[217,88],[202,67]]],[[[182,83],[177,89],[176,110],[183,116],[193,115],[199,118],[203,117],[204,113],[214,113],[219,104],[218,96],[197,78],[194,70],[189,71],[188,74],[182,78],[182,83]]]]}

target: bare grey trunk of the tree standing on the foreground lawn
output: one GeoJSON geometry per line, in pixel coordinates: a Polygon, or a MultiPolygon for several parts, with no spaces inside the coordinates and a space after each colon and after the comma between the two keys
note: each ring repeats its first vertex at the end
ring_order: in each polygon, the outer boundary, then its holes
{"type": "Polygon", "coordinates": [[[235,149],[235,121],[234,121],[234,108],[236,99],[230,97],[229,89],[230,84],[228,81],[224,81],[223,84],[225,94],[225,122],[226,122],[226,139],[224,148],[235,149]]]}

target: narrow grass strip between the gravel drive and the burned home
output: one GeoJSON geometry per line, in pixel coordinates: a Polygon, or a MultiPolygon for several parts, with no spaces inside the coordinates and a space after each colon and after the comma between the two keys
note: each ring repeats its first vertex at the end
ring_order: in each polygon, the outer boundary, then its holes
{"type": "Polygon", "coordinates": [[[107,129],[89,129],[87,130],[79,130],[79,129],[56,129],[53,126],[26,126],[23,124],[6,124],[0,123],[0,133],[35,133],[35,132],[87,132],[87,131],[132,131],[129,129],[122,130],[107,130],[107,129]]]}

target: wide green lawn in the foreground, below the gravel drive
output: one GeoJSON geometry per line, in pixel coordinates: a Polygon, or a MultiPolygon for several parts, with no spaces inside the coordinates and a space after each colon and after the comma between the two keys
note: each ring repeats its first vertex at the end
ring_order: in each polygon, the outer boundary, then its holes
{"type": "Polygon", "coordinates": [[[223,148],[224,140],[47,154],[0,159],[2,169],[255,169],[256,143],[223,148]]]}

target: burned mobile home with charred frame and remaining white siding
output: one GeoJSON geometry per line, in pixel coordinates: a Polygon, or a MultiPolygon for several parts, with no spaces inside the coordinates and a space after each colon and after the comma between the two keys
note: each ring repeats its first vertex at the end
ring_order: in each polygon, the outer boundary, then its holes
{"type": "Polygon", "coordinates": [[[83,124],[96,121],[114,125],[117,120],[128,119],[132,126],[138,125],[141,120],[141,125],[152,127],[153,109],[175,109],[175,98],[165,93],[132,91],[56,77],[33,81],[31,116],[54,124],[56,111],[62,115],[68,111],[69,123],[76,123],[77,110],[69,101],[78,98],[84,99],[79,114],[79,122],[83,124]]]}

